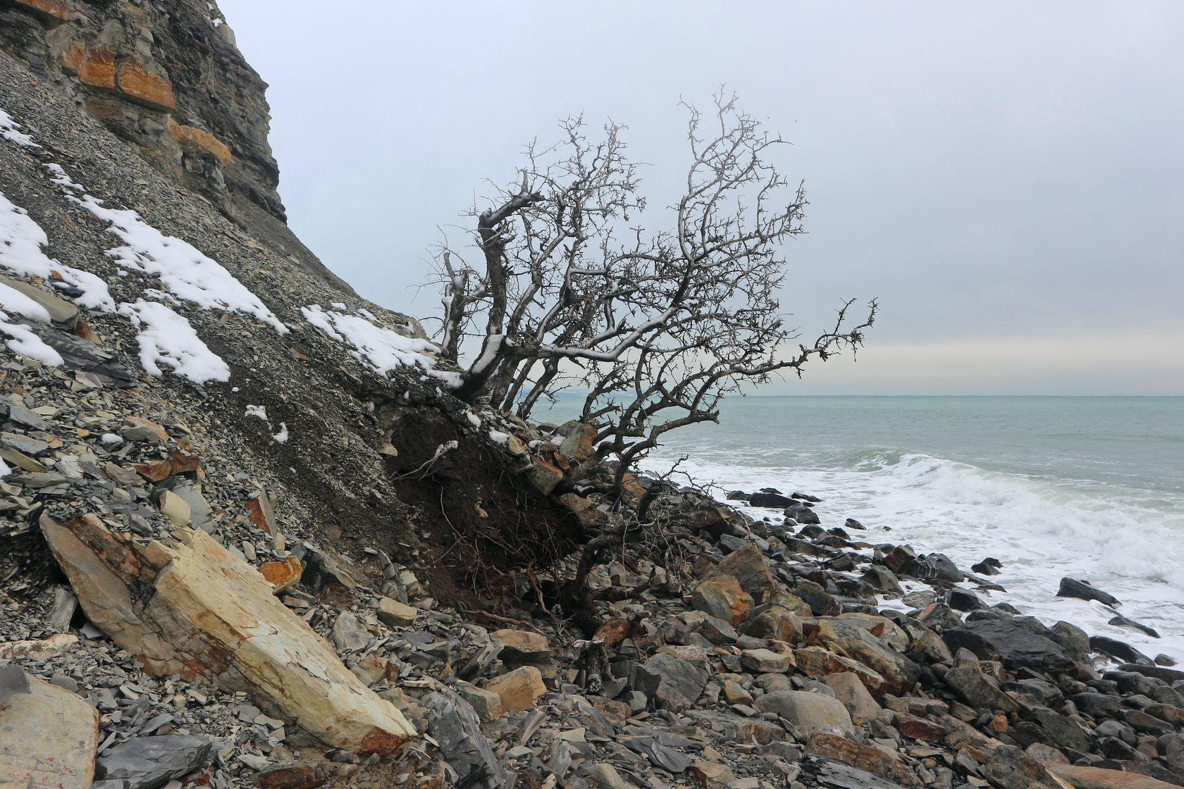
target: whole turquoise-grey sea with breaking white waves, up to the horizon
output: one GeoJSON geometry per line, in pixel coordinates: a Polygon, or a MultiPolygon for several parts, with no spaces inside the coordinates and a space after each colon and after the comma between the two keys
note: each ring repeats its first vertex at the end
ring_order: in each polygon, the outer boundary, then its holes
{"type": "Polygon", "coordinates": [[[1005,591],[963,584],[987,604],[1184,665],[1184,397],[745,396],[723,403],[719,425],[663,441],[643,470],[686,458],[678,470],[721,500],[810,493],[824,528],[866,526],[855,539],[940,551],[963,569],[997,558],[990,581],[1005,591]],[[1066,576],[1121,606],[1057,597],[1066,576]],[[1109,625],[1115,613],[1159,638],[1109,625]]]}

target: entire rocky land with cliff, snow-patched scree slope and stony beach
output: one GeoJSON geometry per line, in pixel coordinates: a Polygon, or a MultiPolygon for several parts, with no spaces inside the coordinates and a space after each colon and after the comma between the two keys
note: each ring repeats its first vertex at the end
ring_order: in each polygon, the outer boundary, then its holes
{"type": "Polygon", "coordinates": [[[0,788],[1184,785],[1184,670],[992,557],[453,397],[169,6],[0,4],[0,788]]]}

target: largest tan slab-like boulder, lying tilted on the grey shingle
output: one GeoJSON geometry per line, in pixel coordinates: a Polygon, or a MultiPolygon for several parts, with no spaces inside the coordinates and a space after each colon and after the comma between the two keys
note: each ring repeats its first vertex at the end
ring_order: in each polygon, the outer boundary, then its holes
{"type": "Polygon", "coordinates": [[[393,756],[414,729],[268,581],[199,529],[144,543],[95,516],[41,532],[86,616],[156,675],[242,691],[329,748],[393,756]]]}

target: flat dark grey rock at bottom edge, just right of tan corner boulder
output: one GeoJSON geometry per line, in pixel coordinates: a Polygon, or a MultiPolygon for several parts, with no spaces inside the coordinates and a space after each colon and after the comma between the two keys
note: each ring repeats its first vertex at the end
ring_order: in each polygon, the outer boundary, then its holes
{"type": "Polygon", "coordinates": [[[96,761],[95,789],[157,789],[200,768],[212,750],[207,737],[135,737],[96,761]]]}

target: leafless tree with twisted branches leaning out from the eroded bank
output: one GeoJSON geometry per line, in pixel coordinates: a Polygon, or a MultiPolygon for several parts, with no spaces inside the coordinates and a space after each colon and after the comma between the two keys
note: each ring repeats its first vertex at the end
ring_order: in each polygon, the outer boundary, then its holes
{"type": "Polygon", "coordinates": [[[437,257],[444,356],[481,343],[457,394],[526,418],[560,388],[586,389],[581,419],[598,431],[586,465],[616,457],[618,486],[664,433],[716,421],[747,383],[857,348],[876,313],[871,302],[849,325],[847,302],[813,345],[785,353],[796,335],[777,291],[783,245],[804,232],[803,186],[770,161],[784,141],[734,96],[718,93],[710,115],[684,106],[691,163],[670,227],[630,226],[645,200],[624,127],[592,143],[572,118],[561,143],[527,147],[495,208],[474,209],[480,266],[446,244],[437,257]]]}

